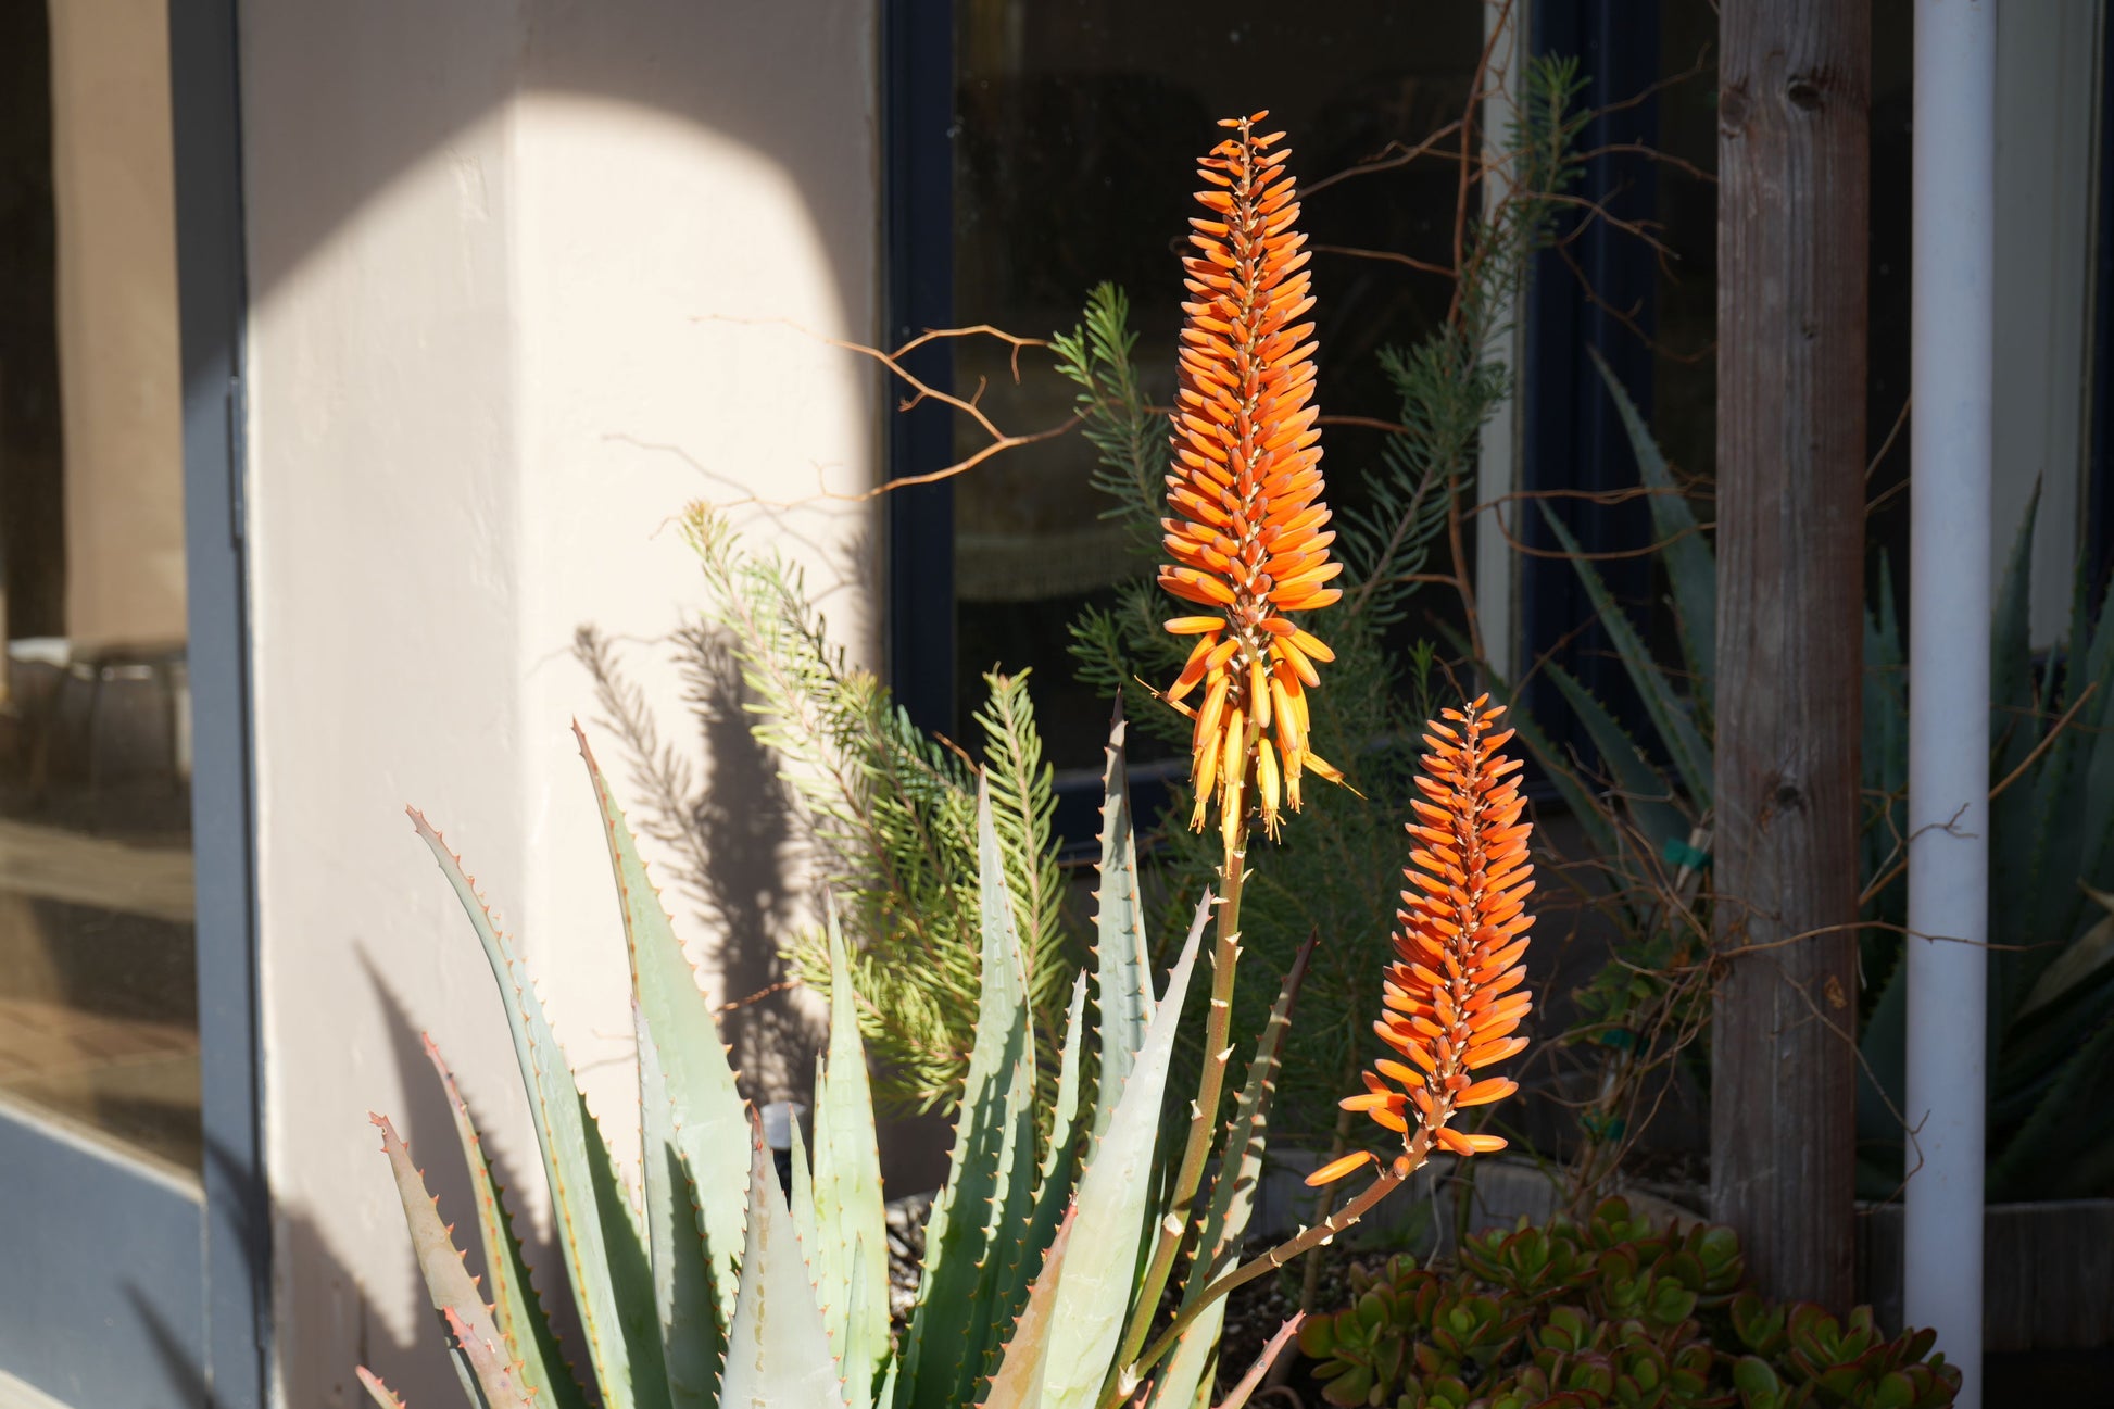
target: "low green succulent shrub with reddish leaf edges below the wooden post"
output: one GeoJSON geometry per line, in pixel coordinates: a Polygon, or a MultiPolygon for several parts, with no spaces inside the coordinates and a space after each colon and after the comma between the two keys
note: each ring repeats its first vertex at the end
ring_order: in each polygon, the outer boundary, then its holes
{"type": "Polygon", "coordinates": [[[1374,1409],[1941,1409],[1960,1371],[1932,1333],[1884,1337],[1871,1307],[1837,1320],[1742,1288],[1727,1227],[1662,1231],[1605,1200],[1586,1221],[1524,1219],[1461,1244],[1438,1271],[1353,1267],[1349,1307],[1300,1350],[1332,1405],[1374,1409]]]}

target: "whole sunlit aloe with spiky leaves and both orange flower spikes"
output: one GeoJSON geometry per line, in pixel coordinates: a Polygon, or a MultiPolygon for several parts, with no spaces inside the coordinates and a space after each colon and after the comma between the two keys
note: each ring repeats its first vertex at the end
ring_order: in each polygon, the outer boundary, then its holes
{"type": "MultiPolygon", "coordinates": [[[[488,1269],[482,1286],[452,1246],[410,1151],[374,1117],[471,1403],[1188,1409],[1216,1377],[1232,1288],[1351,1227],[1433,1151],[1467,1157],[1503,1147],[1499,1136],[1463,1126],[1469,1109],[1512,1094],[1512,1079],[1488,1068],[1526,1045],[1518,1028],[1533,1005],[1520,988],[1533,925],[1531,827],[1518,762],[1503,753],[1512,732],[1497,728],[1503,711],[1478,698],[1425,728],[1429,751],[1406,825],[1410,889],[1402,893],[1395,963],[1380,984],[1385,1018],[1374,1024],[1389,1056],[1372,1064],[1366,1092],[1342,1102],[1372,1119],[1385,1151],[1347,1153],[1309,1183],[1334,1183],[1368,1164],[1376,1174],[1338,1212],[1241,1261],[1279,1051],[1304,971],[1294,965],[1279,986],[1224,1123],[1245,850],[1256,821],[1271,834],[1290,825],[1302,772],[1334,774],[1306,749],[1304,707],[1330,652],[1290,616],[1325,605],[1334,592],[1325,586],[1334,575],[1330,510],[1309,406],[1313,326],[1296,322],[1311,298],[1281,133],[1256,133],[1260,116],[1226,123],[1232,133],[1201,169],[1209,190],[1199,197],[1203,254],[1186,262],[1194,303],[1186,305],[1182,470],[1169,476],[1175,518],[1167,548],[1175,563],[1163,578],[1205,609],[1169,622],[1197,647],[1167,702],[1194,721],[1194,823],[1211,823],[1216,808],[1222,899],[1205,891],[1154,992],[1118,724],[1101,812],[1097,1022],[1087,1020],[1089,980],[1080,971],[1057,1079],[1042,1083],[1017,886],[994,821],[994,787],[979,783],[977,1020],[951,1102],[953,1153],[926,1223],[917,1301],[896,1335],[873,1092],[852,956],[835,922],[827,927],[831,1030],[816,1075],[814,1138],[793,1151],[786,1195],[698,975],[581,734],[630,954],[643,1149],[634,1185],[617,1174],[512,939],[461,861],[414,812],[507,1005],[564,1284],[579,1316],[583,1381],[531,1288],[461,1100],[455,1113],[488,1269]],[[1199,704],[1184,704],[1197,685],[1199,704]],[[1169,1064],[1213,914],[1209,1056],[1186,1102],[1184,1132],[1169,1119],[1169,1064]]],[[[433,1058],[438,1064],[438,1051],[433,1058]]],[[[1273,1348],[1296,1324],[1287,1322],[1273,1348]]],[[[1260,1371],[1228,1405],[1245,1398],[1260,1371]]],[[[361,1379],[376,1403],[397,1403],[366,1371],[361,1379]]]]}

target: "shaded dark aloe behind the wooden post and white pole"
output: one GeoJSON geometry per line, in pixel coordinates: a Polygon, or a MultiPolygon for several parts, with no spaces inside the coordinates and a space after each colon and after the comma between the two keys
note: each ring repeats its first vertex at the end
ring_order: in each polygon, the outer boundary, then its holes
{"type": "MultiPolygon", "coordinates": [[[[1687,857],[1689,838],[1712,806],[1710,738],[1714,690],[1717,559],[1666,457],[1613,372],[1615,398],[1649,504],[1670,605],[1681,628],[1681,662],[1653,658],[1643,637],[1550,514],[1643,700],[1645,740],[1558,662],[1543,662],[1583,721],[1605,776],[1588,776],[1547,736],[1518,717],[1602,857],[1636,872],[1638,891],[1664,886],[1687,857]],[[1609,806],[1619,798],[1619,808],[1609,806]],[[1615,825],[1626,812],[1630,831],[1615,825]],[[1651,872],[1649,876],[1645,872],[1651,872]]],[[[1989,1197],[2076,1197],[2114,1187],[2114,622],[2093,611],[2078,578],[2065,645],[2038,666],[2027,626],[2027,512],[2010,552],[1991,622],[1989,751],[1989,1197]]],[[[1499,692],[1503,694],[1503,692],[1499,692]]],[[[1858,1187],[1888,1197],[1903,1178],[1907,965],[1900,884],[1907,821],[1909,740],[1907,654],[1890,578],[1865,630],[1862,789],[1869,800],[1858,857],[1865,920],[1860,965],[1858,1187]]],[[[1649,944],[1655,937],[1643,935],[1649,944]]],[[[1657,935],[1664,939],[1664,935],[1657,935]]],[[[1626,956],[1630,975],[1636,958],[1626,956]]]]}

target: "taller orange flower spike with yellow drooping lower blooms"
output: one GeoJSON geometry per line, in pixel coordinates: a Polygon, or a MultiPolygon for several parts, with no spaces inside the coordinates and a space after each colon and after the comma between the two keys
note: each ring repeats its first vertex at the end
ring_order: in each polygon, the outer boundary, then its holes
{"type": "Polygon", "coordinates": [[[1321,504],[1321,432],[1313,402],[1313,307],[1306,237],[1285,176],[1285,133],[1258,138],[1268,112],[1228,118],[1235,129],[1203,159],[1197,199],[1209,218],[1190,220],[1197,254],[1182,260],[1190,303],[1182,305],[1182,387],[1175,394],[1173,474],[1161,586],[1209,616],[1177,616],[1167,630],[1197,637],[1167,700],[1197,721],[1190,781],[1203,829],[1211,798],[1232,846],[1254,774],[1262,825],[1277,836],[1279,804],[1300,806],[1309,768],[1342,781],[1306,747],[1306,690],[1321,683],[1315,662],[1336,654],[1300,630],[1287,611],[1313,611],[1338,597],[1342,571],[1330,563],[1330,512],[1321,504]],[[1182,698],[1203,685],[1190,711],[1182,698]],[[1275,747],[1273,747],[1275,745],[1275,747]]]}

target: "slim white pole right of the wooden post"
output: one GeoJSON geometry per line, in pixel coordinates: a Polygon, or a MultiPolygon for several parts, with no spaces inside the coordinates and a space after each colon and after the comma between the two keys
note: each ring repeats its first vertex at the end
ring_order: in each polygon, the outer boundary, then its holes
{"type": "Polygon", "coordinates": [[[1981,1409],[1996,2],[1915,4],[1905,1316],[1981,1409]]]}

